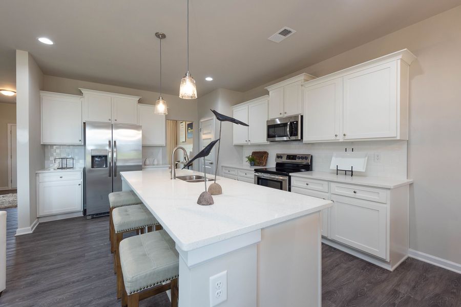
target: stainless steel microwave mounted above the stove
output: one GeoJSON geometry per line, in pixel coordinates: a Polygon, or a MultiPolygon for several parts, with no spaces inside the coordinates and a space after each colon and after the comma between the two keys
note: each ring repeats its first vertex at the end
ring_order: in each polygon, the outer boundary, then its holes
{"type": "Polygon", "coordinates": [[[294,115],[267,121],[267,141],[301,141],[303,116],[294,115]]]}

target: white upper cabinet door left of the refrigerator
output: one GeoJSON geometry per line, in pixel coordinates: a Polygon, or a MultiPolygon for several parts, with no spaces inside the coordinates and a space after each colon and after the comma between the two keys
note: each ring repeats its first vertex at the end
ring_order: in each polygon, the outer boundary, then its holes
{"type": "Polygon", "coordinates": [[[81,99],[41,97],[41,143],[83,144],[81,99]]]}

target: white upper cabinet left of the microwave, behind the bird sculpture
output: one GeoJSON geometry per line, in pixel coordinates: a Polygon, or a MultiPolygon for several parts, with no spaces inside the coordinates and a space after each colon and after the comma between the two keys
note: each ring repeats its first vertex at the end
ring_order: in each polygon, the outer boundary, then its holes
{"type": "Polygon", "coordinates": [[[233,117],[249,125],[233,125],[234,145],[267,143],[268,100],[265,95],[233,107],[233,117]]]}

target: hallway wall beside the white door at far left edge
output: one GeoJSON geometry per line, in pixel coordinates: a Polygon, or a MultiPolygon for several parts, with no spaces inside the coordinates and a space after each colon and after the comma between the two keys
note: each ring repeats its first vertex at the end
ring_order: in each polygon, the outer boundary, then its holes
{"type": "Polygon", "coordinates": [[[8,187],[8,124],[16,123],[16,104],[0,103],[0,188],[8,187]]]}

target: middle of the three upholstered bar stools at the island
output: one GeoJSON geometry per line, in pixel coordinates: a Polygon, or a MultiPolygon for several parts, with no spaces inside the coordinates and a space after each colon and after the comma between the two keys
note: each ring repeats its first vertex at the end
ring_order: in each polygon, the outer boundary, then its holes
{"type": "MultiPolygon", "coordinates": [[[[138,234],[143,234],[144,229],[147,227],[148,231],[156,230],[160,227],[156,218],[143,204],[131,205],[114,208],[112,211],[112,224],[114,232],[112,233],[113,238],[113,249],[114,249],[114,271],[120,273],[120,261],[118,246],[123,239],[123,234],[131,231],[136,231],[138,234]]],[[[117,281],[117,298],[121,297],[122,287],[121,282],[117,281]]]]}

